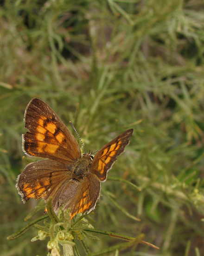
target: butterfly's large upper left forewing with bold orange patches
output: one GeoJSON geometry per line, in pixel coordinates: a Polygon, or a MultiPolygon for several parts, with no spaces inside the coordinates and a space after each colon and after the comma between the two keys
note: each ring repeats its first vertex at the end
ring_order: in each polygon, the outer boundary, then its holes
{"type": "Polygon", "coordinates": [[[25,111],[26,128],[23,151],[27,155],[70,164],[81,157],[75,137],[57,114],[44,102],[32,99],[25,111]]]}

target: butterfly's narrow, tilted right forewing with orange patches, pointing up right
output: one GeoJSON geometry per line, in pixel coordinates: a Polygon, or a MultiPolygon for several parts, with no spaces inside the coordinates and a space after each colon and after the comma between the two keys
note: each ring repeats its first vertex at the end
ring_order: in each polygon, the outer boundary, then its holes
{"type": "Polygon", "coordinates": [[[133,129],[123,132],[121,135],[105,145],[95,155],[91,163],[90,172],[95,174],[101,182],[106,180],[108,170],[116,161],[116,157],[120,155],[129,144],[128,138],[132,136],[132,134],[133,129]]]}

